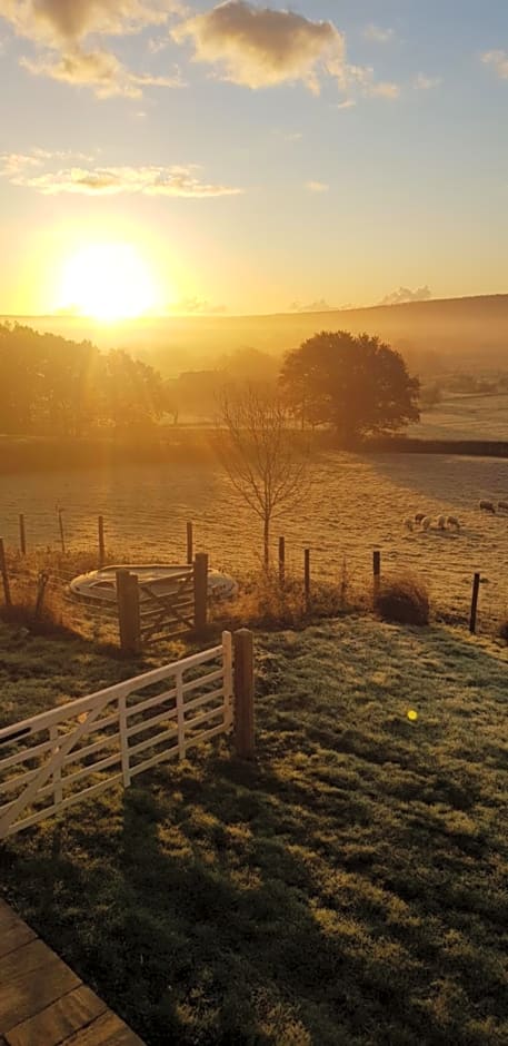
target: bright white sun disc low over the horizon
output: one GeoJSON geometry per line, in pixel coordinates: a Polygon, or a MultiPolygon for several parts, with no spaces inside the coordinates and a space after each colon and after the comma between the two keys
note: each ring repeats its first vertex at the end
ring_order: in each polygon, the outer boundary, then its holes
{"type": "Polygon", "coordinates": [[[102,323],[133,319],[157,306],[148,264],[130,244],[91,244],[66,263],[60,287],[63,309],[102,323]]]}

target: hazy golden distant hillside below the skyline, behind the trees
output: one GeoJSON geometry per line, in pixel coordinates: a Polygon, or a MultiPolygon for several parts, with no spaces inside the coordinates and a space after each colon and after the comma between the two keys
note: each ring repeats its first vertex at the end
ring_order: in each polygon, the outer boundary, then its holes
{"type": "MultiPolygon", "coordinates": [[[[6,317],[9,318],[9,317],[6,317]]],[[[39,330],[130,348],[166,373],[205,366],[247,346],[283,353],[317,330],[379,334],[409,358],[454,357],[454,365],[508,366],[508,295],[271,316],[176,316],[104,327],[69,316],[11,317],[39,330]]],[[[450,359],[444,361],[447,365],[450,359]]]]}

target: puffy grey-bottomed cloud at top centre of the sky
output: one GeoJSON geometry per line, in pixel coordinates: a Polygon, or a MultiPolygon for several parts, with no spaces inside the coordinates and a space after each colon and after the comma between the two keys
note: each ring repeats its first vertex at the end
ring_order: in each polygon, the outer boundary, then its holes
{"type": "Polygon", "coordinates": [[[320,75],[343,76],[345,41],[329,21],[226,0],[172,31],[190,40],[193,60],[218,66],[221,79],[252,89],[303,82],[319,93],[320,75]]]}

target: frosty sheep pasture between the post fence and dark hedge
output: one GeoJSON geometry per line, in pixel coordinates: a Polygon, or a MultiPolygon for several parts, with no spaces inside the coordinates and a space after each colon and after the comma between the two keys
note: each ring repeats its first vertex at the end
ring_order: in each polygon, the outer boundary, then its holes
{"type": "MultiPolygon", "coordinates": [[[[488,580],[480,605],[487,618],[508,614],[508,514],[479,511],[480,499],[508,499],[508,462],[447,455],[322,455],[301,503],[276,522],[272,545],[287,537],[289,566],[301,571],[312,550],[312,574],[338,578],[346,557],[352,582],[370,576],[372,550],[386,570],[411,569],[430,582],[435,605],[467,612],[472,573],[488,580]],[[409,533],[406,516],[424,511],[457,515],[460,534],[409,533]]],[[[111,471],[0,476],[0,536],[18,541],[24,513],[29,545],[59,543],[56,506],[63,507],[66,541],[83,549],[96,542],[97,515],[106,517],[109,549],[131,561],[180,562],[186,522],[196,550],[215,566],[245,573],[259,562],[260,524],[239,503],[225,475],[207,465],[136,465],[111,471]]]]}

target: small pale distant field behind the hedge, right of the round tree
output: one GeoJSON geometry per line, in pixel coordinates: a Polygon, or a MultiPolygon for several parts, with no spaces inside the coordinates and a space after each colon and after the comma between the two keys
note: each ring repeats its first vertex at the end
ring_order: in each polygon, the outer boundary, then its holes
{"type": "Polygon", "coordinates": [[[508,440],[508,394],[454,396],[425,411],[408,435],[420,440],[508,440]]]}

